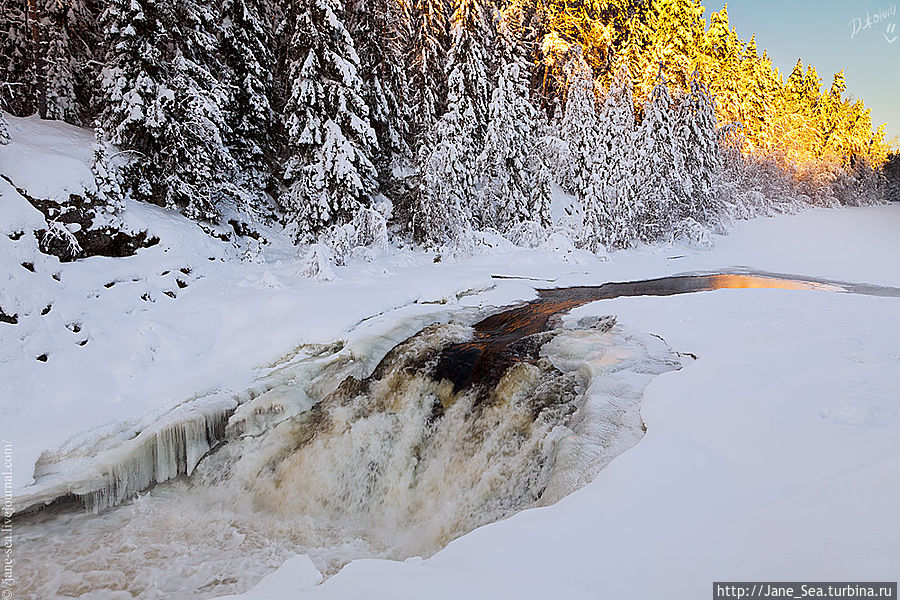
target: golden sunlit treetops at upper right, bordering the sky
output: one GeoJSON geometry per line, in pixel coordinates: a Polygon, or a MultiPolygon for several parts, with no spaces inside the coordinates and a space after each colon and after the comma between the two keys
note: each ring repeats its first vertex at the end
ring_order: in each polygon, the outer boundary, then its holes
{"type": "Polygon", "coordinates": [[[708,17],[700,0],[511,0],[505,10],[535,15],[537,66],[552,83],[545,94],[564,93],[563,67],[577,45],[599,89],[608,88],[617,58],[627,62],[638,110],[660,74],[673,93],[686,93],[697,72],[716,98],[720,125],[739,124],[742,150],[801,176],[877,168],[887,158],[883,129],[873,130],[869,110],[847,93],[843,72],[826,85],[798,60],[784,77],[754,37],[739,37],[727,6],[708,17]]]}

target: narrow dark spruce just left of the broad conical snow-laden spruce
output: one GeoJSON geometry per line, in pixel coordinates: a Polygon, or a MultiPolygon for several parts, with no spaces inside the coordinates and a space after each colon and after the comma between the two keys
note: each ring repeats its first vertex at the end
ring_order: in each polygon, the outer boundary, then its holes
{"type": "Polygon", "coordinates": [[[270,13],[267,0],[225,0],[222,6],[222,60],[229,87],[226,141],[257,199],[271,173],[275,128],[270,13]]]}

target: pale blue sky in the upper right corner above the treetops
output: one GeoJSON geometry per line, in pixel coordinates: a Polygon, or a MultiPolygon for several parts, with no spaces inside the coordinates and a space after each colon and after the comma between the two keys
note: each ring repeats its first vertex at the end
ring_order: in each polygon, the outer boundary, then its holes
{"type": "MultiPolygon", "coordinates": [[[[704,2],[707,19],[723,4],[704,2]]],[[[798,58],[816,67],[825,86],[844,69],[847,91],[872,109],[874,124],[887,123],[888,139],[900,136],[900,0],[731,0],[728,16],[741,38],[756,33],[760,52],[768,50],[785,77],[798,58]],[[892,7],[893,15],[851,39],[854,19],[865,25],[866,11],[892,7]]]]}

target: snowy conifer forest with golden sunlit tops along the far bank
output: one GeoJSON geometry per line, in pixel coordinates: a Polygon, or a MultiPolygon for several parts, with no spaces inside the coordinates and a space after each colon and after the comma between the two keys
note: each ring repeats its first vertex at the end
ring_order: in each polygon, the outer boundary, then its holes
{"type": "Polygon", "coordinates": [[[6,111],[95,128],[95,203],[252,214],[338,261],[884,196],[843,73],[782,76],[699,0],[6,0],[0,68],[6,111]]]}

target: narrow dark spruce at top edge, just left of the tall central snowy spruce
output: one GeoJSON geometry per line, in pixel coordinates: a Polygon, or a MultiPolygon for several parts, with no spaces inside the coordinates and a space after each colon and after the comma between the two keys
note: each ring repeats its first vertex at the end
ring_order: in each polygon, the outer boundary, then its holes
{"type": "Polygon", "coordinates": [[[411,6],[409,103],[413,136],[422,142],[446,106],[447,0],[414,0],[411,6]]]}

